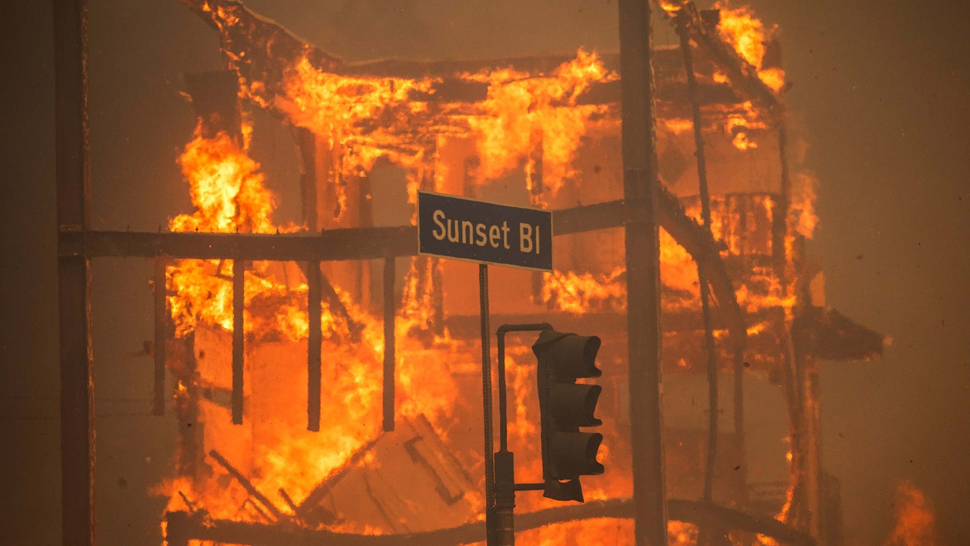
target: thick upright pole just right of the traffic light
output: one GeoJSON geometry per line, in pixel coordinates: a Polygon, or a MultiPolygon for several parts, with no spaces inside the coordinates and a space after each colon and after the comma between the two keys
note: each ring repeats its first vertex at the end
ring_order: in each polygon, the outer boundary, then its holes
{"type": "Polygon", "coordinates": [[[643,0],[620,0],[619,9],[634,537],[638,546],[663,546],[667,542],[666,487],[651,8],[643,0]]]}

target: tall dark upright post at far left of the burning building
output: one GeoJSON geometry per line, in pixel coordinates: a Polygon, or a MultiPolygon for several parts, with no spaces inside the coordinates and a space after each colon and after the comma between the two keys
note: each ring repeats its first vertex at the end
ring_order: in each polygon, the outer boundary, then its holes
{"type": "Polygon", "coordinates": [[[54,0],[54,123],[57,177],[57,289],[60,324],[62,543],[94,544],[94,366],[91,265],[86,244],[65,236],[89,229],[87,2],[54,0]]]}

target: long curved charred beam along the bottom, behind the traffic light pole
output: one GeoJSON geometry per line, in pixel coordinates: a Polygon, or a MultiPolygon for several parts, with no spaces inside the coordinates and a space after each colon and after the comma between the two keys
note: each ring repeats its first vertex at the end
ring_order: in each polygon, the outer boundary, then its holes
{"type": "MultiPolygon", "coordinates": [[[[812,536],[793,530],[768,516],[756,516],[709,502],[671,498],[667,501],[670,519],[697,524],[708,518],[726,529],[762,534],[791,546],[816,546],[812,536]]],[[[630,498],[592,500],[583,504],[557,506],[537,512],[518,514],[516,530],[531,530],[543,526],[581,521],[592,518],[629,519],[633,514],[630,498]]],[[[329,530],[308,530],[293,526],[211,520],[205,513],[168,512],[166,532],[170,544],[178,540],[212,540],[222,543],[276,546],[302,544],[305,546],[424,546],[426,544],[468,544],[485,537],[485,523],[474,522],[455,528],[400,534],[353,534],[329,530]]],[[[184,544],[184,542],[181,542],[184,544]]]]}

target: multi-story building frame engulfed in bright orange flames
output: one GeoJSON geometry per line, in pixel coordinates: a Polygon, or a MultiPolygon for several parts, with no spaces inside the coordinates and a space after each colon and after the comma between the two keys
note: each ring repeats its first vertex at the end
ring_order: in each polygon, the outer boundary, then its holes
{"type": "MultiPolygon", "coordinates": [[[[195,210],[168,233],[84,241],[155,260],[155,407],[174,398],[179,423],[176,474],[154,492],[171,499],[168,543],[483,539],[477,269],[416,255],[418,190],[554,211],[555,271],[493,269],[491,321],[602,338],[608,470],[583,505],[520,494],[518,536],[632,543],[642,424],[624,227],[637,219],[619,55],[349,63],[240,2],[183,4],[218,34],[225,68],[185,77],[198,126],[178,162],[195,210]],[[250,109],[291,130],[301,223],[274,220],[250,109]]],[[[664,422],[668,538],[839,544],[816,361],[873,358],[884,339],[825,305],[805,251],[816,180],[792,160],[778,44],[744,9],[663,11],[681,44],[652,53],[660,365],[667,391],[707,399],[703,426],[664,422]],[[783,392],[782,485],[749,480],[746,377],[783,392]]],[[[502,365],[516,471],[538,479],[530,342],[510,337],[502,365]]]]}

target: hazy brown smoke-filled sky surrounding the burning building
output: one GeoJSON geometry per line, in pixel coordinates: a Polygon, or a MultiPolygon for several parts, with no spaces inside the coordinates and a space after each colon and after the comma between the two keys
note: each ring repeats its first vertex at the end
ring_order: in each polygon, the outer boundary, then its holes
{"type": "MultiPolygon", "coordinates": [[[[611,0],[247,5],[348,60],[607,51],[619,43],[611,0]]],[[[821,221],[809,248],[823,264],[826,305],[892,339],[881,359],[821,365],[823,459],[841,481],[847,544],[883,542],[903,479],[932,500],[945,543],[965,543],[970,9],[873,0],[751,5],[779,25],[792,127],[807,143],[801,166],[821,180],[821,221]]],[[[0,466],[12,485],[3,488],[0,542],[57,544],[51,8],[2,9],[0,466]]],[[[190,206],[175,164],[194,127],[181,75],[218,69],[217,40],[175,0],[92,0],[90,20],[92,221],[153,231],[190,206]]],[[[673,40],[663,22],[656,28],[659,43],[673,40]]],[[[266,149],[292,153],[282,133],[260,138],[266,149]]],[[[274,176],[285,203],[296,174],[274,176]]],[[[284,217],[299,213],[283,207],[284,217]]],[[[162,506],[146,508],[145,490],[166,471],[157,454],[171,449],[174,431],[138,417],[150,364],[122,356],[151,337],[150,264],[106,260],[93,271],[97,393],[105,399],[98,426],[128,454],[99,473],[113,487],[98,501],[130,505],[132,521],[154,510],[151,520],[162,506]],[[136,426],[139,434],[124,434],[136,426]]],[[[127,535],[102,533],[105,543],[119,536],[127,535]]]]}

